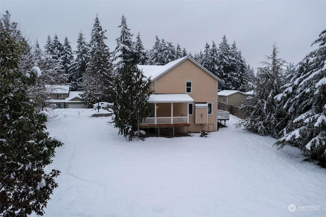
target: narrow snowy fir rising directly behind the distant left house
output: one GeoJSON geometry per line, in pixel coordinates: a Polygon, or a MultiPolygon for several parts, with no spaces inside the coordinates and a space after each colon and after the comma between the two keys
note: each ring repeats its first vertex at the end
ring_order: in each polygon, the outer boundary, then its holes
{"type": "Polygon", "coordinates": [[[77,45],[75,50],[76,58],[72,61],[69,68],[70,88],[72,91],[83,90],[83,75],[86,73],[87,66],[90,62],[89,46],[84,38],[82,31],[78,33],[77,45]]]}

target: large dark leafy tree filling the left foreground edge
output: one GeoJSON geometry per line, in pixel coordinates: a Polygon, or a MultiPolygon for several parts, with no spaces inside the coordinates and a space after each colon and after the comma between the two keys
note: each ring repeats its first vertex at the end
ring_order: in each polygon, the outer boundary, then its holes
{"type": "Polygon", "coordinates": [[[15,37],[20,33],[7,26],[9,21],[7,11],[0,21],[0,215],[43,215],[59,175],[44,168],[62,144],[49,138],[45,115],[36,114],[33,100],[26,95],[40,69],[21,73],[18,63],[26,41],[15,37]]]}

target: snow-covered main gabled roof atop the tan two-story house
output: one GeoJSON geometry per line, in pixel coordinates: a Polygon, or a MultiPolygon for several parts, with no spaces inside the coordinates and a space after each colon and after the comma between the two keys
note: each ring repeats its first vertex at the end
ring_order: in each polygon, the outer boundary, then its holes
{"type": "Polygon", "coordinates": [[[185,60],[190,60],[193,63],[195,63],[198,67],[200,67],[201,69],[203,69],[205,72],[207,72],[208,74],[210,74],[212,77],[214,77],[215,79],[219,80],[221,82],[221,79],[218,78],[216,75],[214,75],[213,73],[211,73],[210,71],[208,71],[207,69],[205,69],[202,65],[200,65],[199,63],[197,63],[194,59],[192,59],[189,56],[185,56],[183,58],[177,59],[175,61],[172,61],[164,66],[158,66],[158,65],[137,65],[137,67],[140,70],[143,70],[143,74],[150,78],[151,80],[156,80],[157,78],[159,78],[160,76],[164,75],[165,73],[167,73],[168,71],[170,71],[171,69],[173,69],[174,67],[176,67],[177,65],[179,65],[180,63],[182,63],[185,60]]]}

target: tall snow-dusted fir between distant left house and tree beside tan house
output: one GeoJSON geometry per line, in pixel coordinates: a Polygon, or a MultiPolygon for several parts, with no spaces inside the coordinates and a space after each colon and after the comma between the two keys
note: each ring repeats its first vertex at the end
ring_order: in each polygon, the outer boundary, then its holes
{"type": "Polygon", "coordinates": [[[102,26],[96,15],[91,40],[89,43],[90,50],[88,56],[90,62],[86,73],[83,75],[83,99],[87,107],[92,107],[97,100],[112,101],[110,93],[110,83],[112,82],[112,63],[110,49],[105,44],[106,30],[102,26]],[[95,93],[102,93],[101,98],[95,93]]]}

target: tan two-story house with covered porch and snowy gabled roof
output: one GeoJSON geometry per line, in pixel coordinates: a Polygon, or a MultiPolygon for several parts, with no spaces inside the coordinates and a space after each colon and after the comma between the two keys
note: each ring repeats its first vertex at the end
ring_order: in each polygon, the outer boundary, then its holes
{"type": "Polygon", "coordinates": [[[140,128],[216,131],[220,78],[186,56],[164,66],[138,65],[151,80],[150,111],[140,128]]]}

